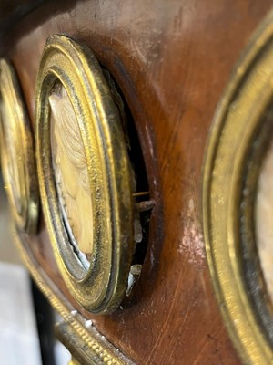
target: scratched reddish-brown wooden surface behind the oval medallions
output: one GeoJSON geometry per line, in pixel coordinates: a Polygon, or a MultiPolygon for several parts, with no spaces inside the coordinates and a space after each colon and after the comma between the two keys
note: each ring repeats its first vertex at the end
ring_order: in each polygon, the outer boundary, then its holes
{"type": "Polygon", "coordinates": [[[48,2],[11,27],[15,64],[35,127],[35,78],[47,36],[84,41],[122,90],[144,151],[153,211],[140,283],[129,305],[91,316],[67,293],[43,218],[29,246],[75,307],[137,364],[235,365],[211,286],[201,217],[211,120],[234,63],[271,1],[48,2]]]}

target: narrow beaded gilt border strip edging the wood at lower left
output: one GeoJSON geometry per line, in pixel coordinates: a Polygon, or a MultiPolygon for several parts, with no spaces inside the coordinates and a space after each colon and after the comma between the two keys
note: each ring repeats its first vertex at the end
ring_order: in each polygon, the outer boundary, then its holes
{"type": "Polygon", "coordinates": [[[84,341],[88,349],[90,349],[88,354],[86,353],[87,363],[96,365],[134,365],[134,362],[128,360],[121,351],[114,348],[105,338],[102,338],[102,335],[97,332],[96,328],[88,326],[88,330],[86,329],[86,322],[83,321],[80,314],[75,313],[74,308],[69,304],[66,297],[62,295],[51,279],[45,275],[35,257],[27,249],[25,235],[15,232],[15,229],[13,231],[15,244],[37,287],[44,293],[52,307],[64,318],[69,327],[73,328],[78,339],[84,341]]]}

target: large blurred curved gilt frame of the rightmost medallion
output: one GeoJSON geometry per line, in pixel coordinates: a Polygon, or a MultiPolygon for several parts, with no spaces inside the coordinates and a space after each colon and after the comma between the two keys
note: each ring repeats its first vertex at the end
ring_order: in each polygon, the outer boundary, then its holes
{"type": "Polygon", "coordinates": [[[207,145],[207,258],[231,339],[246,364],[273,361],[272,304],[259,265],[255,202],[272,139],[273,13],[258,28],[221,99],[207,145]]]}

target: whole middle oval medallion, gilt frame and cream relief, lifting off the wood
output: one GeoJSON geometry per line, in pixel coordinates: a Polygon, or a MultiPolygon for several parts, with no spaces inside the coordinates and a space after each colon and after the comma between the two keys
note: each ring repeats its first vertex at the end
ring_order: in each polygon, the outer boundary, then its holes
{"type": "Polygon", "coordinates": [[[118,110],[96,57],[66,36],[51,36],[41,60],[36,146],[45,222],[66,285],[87,310],[111,312],[124,296],[134,251],[132,172],[118,110]],[[63,130],[55,127],[60,119],[63,130]],[[58,135],[66,132],[80,136],[86,163],[81,171],[66,155],[69,142],[58,135]],[[71,193],[75,180],[78,192],[71,193]]]}

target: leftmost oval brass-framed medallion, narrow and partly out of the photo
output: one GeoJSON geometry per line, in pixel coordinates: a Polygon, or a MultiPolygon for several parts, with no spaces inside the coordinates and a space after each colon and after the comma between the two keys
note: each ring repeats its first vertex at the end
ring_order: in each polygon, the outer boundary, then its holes
{"type": "Polygon", "coordinates": [[[1,160],[11,212],[17,229],[34,234],[38,218],[38,183],[30,123],[15,70],[0,61],[1,160]]]}

